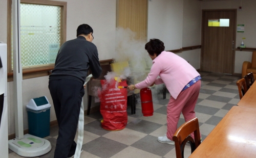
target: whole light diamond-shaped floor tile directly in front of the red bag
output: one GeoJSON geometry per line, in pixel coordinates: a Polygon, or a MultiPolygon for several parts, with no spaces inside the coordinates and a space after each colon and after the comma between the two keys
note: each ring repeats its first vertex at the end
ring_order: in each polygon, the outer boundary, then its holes
{"type": "Polygon", "coordinates": [[[147,134],[140,133],[139,131],[135,131],[132,129],[124,128],[118,131],[111,131],[108,134],[103,135],[102,137],[126,144],[132,145],[143,137],[147,136],[147,134]]]}

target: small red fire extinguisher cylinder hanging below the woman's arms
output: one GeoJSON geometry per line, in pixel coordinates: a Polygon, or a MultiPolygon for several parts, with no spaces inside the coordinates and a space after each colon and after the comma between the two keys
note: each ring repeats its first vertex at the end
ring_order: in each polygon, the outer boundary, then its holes
{"type": "Polygon", "coordinates": [[[140,101],[143,116],[152,116],[154,112],[152,93],[150,88],[140,90],[140,101]]]}

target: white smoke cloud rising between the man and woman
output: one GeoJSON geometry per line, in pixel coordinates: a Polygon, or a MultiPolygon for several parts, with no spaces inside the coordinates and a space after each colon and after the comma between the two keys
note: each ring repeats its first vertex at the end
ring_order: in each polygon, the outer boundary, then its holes
{"type": "MultiPolygon", "coordinates": [[[[150,72],[152,60],[145,50],[146,41],[136,39],[136,33],[130,29],[116,29],[116,51],[110,55],[116,62],[129,62],[129,67],[123,69],[122,74],[117,75],[115,72],[108,72],[104,77],[107,82],[118,78],[120,80],[132,80],[128,84],[137,84],[145,80],[150,72]],[[127,78],[128,77],[128,78],[127,78]]],[[[154,102],[158,102],[159,92],[163,86],[154,86],[152,89],[154,102]]],[[[104,89],[106,87],[102,87],[104,89]]],[[[99,100],[98,100],[99,101],[99,100]]],[[[96,100],[95,100],[96,102],[96,100]]]]}

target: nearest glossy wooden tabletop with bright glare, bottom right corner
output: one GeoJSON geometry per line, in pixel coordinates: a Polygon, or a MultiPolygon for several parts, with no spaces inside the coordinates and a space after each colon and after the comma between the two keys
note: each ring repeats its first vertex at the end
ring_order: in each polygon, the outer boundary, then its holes
{"type": "Polygon", "coordinates": [[[256,108],[232,107],[190,157],[256,157],[256,108]]]}

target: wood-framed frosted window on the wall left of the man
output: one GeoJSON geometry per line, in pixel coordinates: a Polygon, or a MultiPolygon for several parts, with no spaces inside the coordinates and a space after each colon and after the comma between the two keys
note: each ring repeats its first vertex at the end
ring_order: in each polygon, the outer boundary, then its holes
{"type": "MultiPolygon", "coordinates": [[[[8,3],[11,10],[11,1],[8,3]]],[[[12,45],[11,11],[8,12],[8,45],[12,45]]],[[[20,50],[24,78],[48,75],[60,45],[66,41],[67,2],[20,1],[20,50]]],[[[8,49],[8,78],[13,71],[8,49]]]]}

